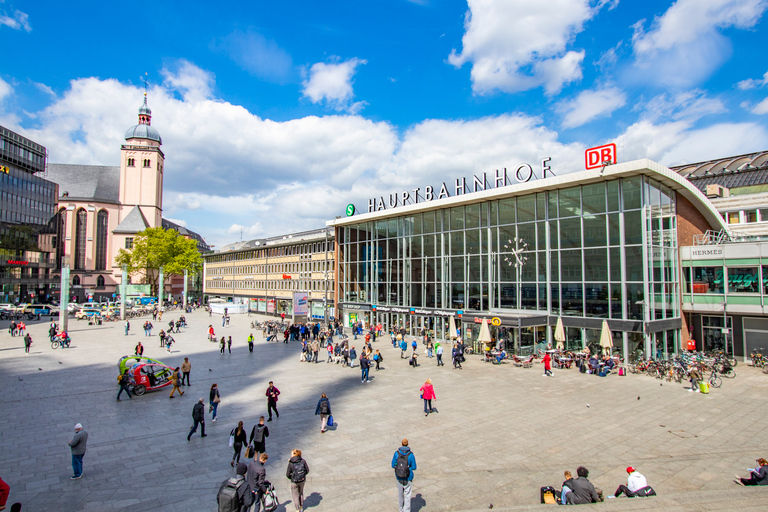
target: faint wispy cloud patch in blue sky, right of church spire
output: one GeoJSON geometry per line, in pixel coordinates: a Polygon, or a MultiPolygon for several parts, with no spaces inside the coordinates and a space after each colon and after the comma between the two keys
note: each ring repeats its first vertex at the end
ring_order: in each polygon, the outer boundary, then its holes
{"type": "Polygon", "coordinates": [[[258,32],[235,30],[212,47],[227,52],[238,66],[264,80],[285,83],[296,75],[291,55],[258,32]]]}

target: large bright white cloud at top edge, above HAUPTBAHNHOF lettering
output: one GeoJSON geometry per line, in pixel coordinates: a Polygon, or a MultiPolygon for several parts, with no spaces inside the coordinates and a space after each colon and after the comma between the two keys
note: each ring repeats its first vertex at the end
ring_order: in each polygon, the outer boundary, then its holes
{"type": "Polygon", "coordinates": [[[605,5],[589,0],[469,0],[462,38],[448,62],[472,63],[472,90],[517,92],[543,86],[547,94],[581,80],[584,51],[568,50],[584,23],[605,5]]]}

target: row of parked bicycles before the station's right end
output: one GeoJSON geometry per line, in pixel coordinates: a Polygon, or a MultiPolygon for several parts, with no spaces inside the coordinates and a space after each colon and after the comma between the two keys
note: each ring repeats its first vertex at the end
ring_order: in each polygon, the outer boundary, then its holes
{"type": "Polygon", "coordinates": [[[710,386],[719,388],[723,385],[723,377],[728,379],[736,377],[736,365],[738,361],[735,358],[727,357],[722,352],[716,354],[694,352],[672,356],[669,359],[638,361],[629,364],[627,370],[630,373],[645,373],[657,379],[666,379],[667,382],[683,382],[690,380],[691,370],[695,368],[710,386]],[[708,379],[707,375],[709,375],[708,379]]]}

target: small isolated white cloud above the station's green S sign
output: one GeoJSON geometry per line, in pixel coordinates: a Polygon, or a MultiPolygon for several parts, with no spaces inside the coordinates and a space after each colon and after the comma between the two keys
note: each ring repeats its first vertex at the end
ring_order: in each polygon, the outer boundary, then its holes
{"type": "MultiPolygon", "coordinates": [[[[338,60],[338,58],[334,58],[338,60]]],[[[364,103],[353,103],[352,77],[357,67],[366,64],[367,61],[352,58],[343,62],[317,62],[309,69],[309,78],[302,83],[302,94],[312,103],[325,101],[335,110],[356,113],[364,106],[364,103]]]]}

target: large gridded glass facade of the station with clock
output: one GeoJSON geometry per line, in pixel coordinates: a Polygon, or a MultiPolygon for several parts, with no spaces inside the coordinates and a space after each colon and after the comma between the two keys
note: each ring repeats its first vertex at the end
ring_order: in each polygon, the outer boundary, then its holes
{"type": "Polygon", "coordinates": [[[342,303],[680,317],[675,194],[647,176],[343,225],[337,237],[342,303]]]}

